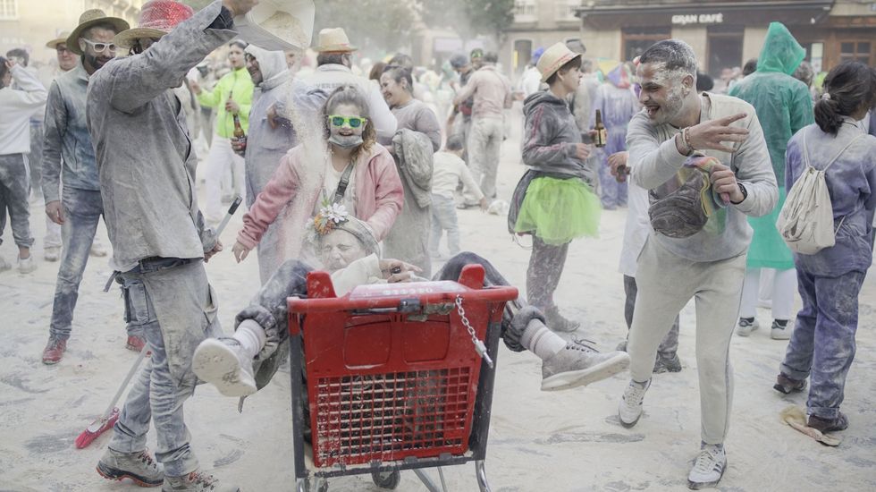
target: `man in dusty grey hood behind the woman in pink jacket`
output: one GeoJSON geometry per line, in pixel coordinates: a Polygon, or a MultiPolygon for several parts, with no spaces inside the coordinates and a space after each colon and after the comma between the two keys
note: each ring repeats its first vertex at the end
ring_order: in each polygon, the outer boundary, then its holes
{"type": "MultiPolygon", "coordinates": [[[[258,193],[274,177],[280,159],[299,144],[313,125],[326,94],[309,91],[307,84],[292,78],[282,51],[267,51],[255,45],[245,50],[247,70],[256,86],[249,109],[249,134],[242,141],[232,141],[234,151],[246,158],[247,207],[252,207],[258,193]]],[[[280,224],[270,225],[258,242],[258,275],[265,284],[282,263],[280,224]]]]}

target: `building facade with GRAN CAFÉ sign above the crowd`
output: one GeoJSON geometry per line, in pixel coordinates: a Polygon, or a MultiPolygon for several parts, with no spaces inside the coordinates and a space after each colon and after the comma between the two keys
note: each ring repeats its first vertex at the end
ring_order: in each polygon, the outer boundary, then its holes
{"type": "Polygon", "coordinates": [[[816,71],[849,59],[876,64],[872,0],[518,0],[515,13],[501,55],[516,72],[532,50],[560,40],[580,38],[590,57],[631,60],[680,38],[717,76],[760,54],[771,21],[788,26],[816,71]]]}

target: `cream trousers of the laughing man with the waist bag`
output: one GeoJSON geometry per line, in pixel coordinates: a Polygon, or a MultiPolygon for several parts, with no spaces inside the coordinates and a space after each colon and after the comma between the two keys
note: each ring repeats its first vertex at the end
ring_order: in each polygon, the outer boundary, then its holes
{"type": "Polygon", "coordinates": [[[678,312],[695,298],[701,437],[710,445],[723,443],[729,428],[733,403],[730,338],[744,279],[745,254],[692,261],[670,253],[653,235],[645,242],[636,268],[636,312],[627,345],[630,377],[640,383],[651,378],[658,345],[678,312]]]}

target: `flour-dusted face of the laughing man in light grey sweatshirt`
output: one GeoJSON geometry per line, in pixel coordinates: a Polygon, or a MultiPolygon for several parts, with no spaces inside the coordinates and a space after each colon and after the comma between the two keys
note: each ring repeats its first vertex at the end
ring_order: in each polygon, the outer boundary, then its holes
{"type": "Polygon", "coordinates": [[[668,71],[661,63],[640,64],[636,70],[642,85],[639,102],[654,123],[667,123],[681,113],[693,77],[682,70],[668,71]]]}

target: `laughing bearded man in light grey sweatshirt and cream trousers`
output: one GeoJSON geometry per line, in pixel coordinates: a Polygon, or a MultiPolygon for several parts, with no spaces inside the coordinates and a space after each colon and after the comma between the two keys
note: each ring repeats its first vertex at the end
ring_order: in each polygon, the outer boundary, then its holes
{"type": "Polygon", "coordinates": [[[660,41],[640,62],[644,110],[630,121],[627,143],[632,182],[651,190],[655,232],[638,258],[628,343],[631,380],[619,419],[626,428],[636,425],[657,347],[678,311],[695,298],[702,445],[688,486],[703,488],[718,483],[727,465],[729,344],[752,236],[745,219],[768,213],[778,188],[754,107],[737,98],[697,94],[691,47],[660,41]],[[701,158],[688,159],[695,152],[701,158]],[[703,208],[711,213],[698,215],[703,208]],[[665,220],[656,220],[661,217],[665,220]]]}

